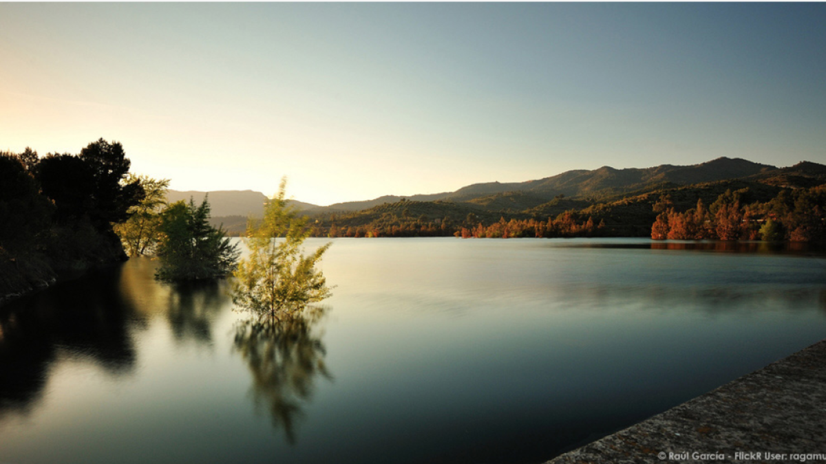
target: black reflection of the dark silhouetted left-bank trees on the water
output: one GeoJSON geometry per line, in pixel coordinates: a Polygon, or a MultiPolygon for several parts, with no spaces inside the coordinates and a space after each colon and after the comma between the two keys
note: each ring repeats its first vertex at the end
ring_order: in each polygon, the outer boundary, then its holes
{"type": "Polygon", "coordinates": [[[0,416],[26,413],[63,356],[92,361],[122,376],[135,367],[131,301],[118,290],[121,268],[65,282],[0,308],[0,416]]]}

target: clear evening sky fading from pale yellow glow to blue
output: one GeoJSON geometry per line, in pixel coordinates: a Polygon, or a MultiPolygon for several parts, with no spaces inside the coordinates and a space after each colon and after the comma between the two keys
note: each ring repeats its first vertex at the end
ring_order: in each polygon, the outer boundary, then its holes
{"type": "Polygon", "coordinates": [[[824,3],[0,3],[0,149],[317,205],[826,163],[824,3]]]}

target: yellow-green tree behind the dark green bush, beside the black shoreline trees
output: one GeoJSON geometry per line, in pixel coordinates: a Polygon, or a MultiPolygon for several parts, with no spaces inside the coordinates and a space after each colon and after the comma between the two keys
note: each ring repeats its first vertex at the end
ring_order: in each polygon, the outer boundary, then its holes
{"type": "Polygon", "coordinates": [[[143,175],[129,174],[127,184],[137,182],[143,187],[145,196],[127,212],[130,217],[115,225],[115,232],[129,256],[154,253],[161,239],[161,210],[166,206],[166,190],[169,179],[153,179],[143,175]]]}

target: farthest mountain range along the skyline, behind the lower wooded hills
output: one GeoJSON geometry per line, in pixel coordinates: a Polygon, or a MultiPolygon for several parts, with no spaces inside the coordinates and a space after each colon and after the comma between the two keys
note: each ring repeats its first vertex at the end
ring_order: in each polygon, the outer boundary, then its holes
{"type": "MultiPolygon", "coordinates": [[[[297,210],[313,217],[365,211],[385,203],[401,200],[453,203],[463,211],[491,214],[517,213],[552,214],[564,209],[582,209],[611,198],[641,194],[657,189],[690,186],[707,182],[757,182],[775,187],[813,187],[826,183],[826,165],[801,162],[787,168],[754,163],[747,159],[718,158],[692,165],[661,164],[653,168],[616,169],[610,166],[577,169],[525,182],[485,182],[441,192],[413,196],[379,196],[366,201],[348,201],[330,206],[317,206],[290,201],[297,210]]],[[[263,212],[266,196],[261,192],[215,191],[178,192],[170,190],[169,201],[188,200],[197,203],[209,195],[211,214],[222,220],[229,230],[243,229],[245,218],[263,212]]],[[[455,208],[452,208],[455,210],[455,208]]],[[[456,213],[458,214],[458,212],[456,213]]]]}

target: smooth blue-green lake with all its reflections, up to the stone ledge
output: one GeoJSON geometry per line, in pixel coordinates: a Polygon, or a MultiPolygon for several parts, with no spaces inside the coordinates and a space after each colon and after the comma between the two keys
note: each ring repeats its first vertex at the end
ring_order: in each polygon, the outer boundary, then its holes
{"type": "Polygon", "coordinates": [[[145,258],[3,305],[0,462],[544,462],[826,338],[823,253],[332,241],[275,333],[145,258]]]}

